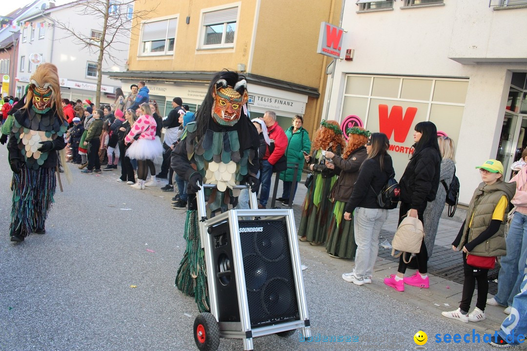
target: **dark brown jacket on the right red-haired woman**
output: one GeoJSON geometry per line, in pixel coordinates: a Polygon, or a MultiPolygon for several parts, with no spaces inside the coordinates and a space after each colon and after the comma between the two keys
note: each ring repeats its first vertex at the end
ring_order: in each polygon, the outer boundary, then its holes
{"type": "Polygon", "coordinates": [[[362,165],[366,157],[368,157],[368,154],[364,146],[355,149],[346,159],[338,155],[333,157],[335,173],[338,174],[338,179],[329,195],[331,198],[341,202],[349,200],[359,176],[360,165],[362,165]]]}

